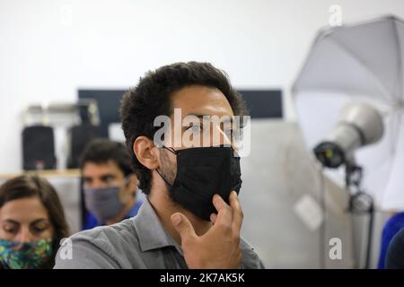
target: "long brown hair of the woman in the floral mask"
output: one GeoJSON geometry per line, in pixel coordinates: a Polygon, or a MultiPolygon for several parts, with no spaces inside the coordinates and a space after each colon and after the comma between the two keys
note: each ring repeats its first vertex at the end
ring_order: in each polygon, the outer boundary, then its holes
{"type": "Polygon", "coordinates": [[[34,196],[40,198],[40,202],[47,209],[49,221],[55,230],[52,246],[53,255],[42,266],[42,268],[52,268],[55,265],[55,257],[60,240],[69,235],[65,212],[55,188],[50,185],[48,180],[35,175],[22,175],[9,179],[0,187],[0,208],[7,202],[34,196]]]}

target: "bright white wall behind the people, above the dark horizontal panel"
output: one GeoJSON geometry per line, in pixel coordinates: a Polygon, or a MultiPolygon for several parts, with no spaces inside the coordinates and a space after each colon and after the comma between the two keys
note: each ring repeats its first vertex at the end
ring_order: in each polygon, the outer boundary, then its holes
{"type": "Polygon", "coordinates": [[[149,69],[199,60],[239,88],[287,91],[330,4],[343,22],[404,17],[401,0],[0,0],[0,172],[21,168],[23,104],[73,101],[78,87],[127,88],[149,69]]]}

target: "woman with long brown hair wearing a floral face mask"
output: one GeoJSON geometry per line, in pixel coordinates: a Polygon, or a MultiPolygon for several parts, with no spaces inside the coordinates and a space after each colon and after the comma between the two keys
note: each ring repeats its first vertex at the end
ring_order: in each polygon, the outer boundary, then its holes
{"type": "Polygon", "coordinates": [[[23,175],[0,187],[0,269],[52,268],[68,226],[54,187],[23,175]]]}

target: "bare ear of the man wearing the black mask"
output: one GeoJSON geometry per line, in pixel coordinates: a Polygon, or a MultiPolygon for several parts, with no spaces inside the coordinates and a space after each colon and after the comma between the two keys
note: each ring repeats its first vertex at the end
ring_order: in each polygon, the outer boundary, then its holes
{"type": "Polygon", "coordinates": [[[144,135],[138,136],[132,146],[137,161],[147,169],[155,170],[159,167],[159,151],[153,141],[144,135]]]}

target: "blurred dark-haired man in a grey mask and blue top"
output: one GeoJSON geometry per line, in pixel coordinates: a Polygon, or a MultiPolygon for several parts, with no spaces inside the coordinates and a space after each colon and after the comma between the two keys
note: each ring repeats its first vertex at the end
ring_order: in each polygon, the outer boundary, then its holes
{"type": "Polygon", "coordinates": [[[89,143],[81,157],[83,229],[110,225],[136,215],[137,178],[124,144],[108,139],[89,143]]]}

